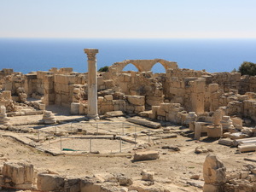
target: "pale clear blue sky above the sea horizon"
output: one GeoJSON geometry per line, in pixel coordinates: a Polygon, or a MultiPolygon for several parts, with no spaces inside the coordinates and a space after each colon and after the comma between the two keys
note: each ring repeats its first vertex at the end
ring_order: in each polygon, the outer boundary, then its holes
{"type": "Polygon", "coordinates": [[[255,0],[0,0],[0,38],[256,38],[255,0]]]}

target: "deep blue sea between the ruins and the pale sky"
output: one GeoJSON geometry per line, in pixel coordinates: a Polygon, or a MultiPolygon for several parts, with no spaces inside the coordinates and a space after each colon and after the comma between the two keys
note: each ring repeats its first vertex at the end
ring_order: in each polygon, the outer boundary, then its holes
{"type": "MultiPolygon", "coordinates": [[[[97,67],[124,60],[176,61],[180,68],[207,72],[230,72],[243,61],[256,62],[256,39],[87,39],[0,38],[0,70],[48,71],[51,67],[73,67],[87,72],[84,48],[99,49],[97,67]]],[[[136,70],[132,65],[124,70],[136,70]]],[[[156,64],[154,73],[165,72],[156,64]]]]}

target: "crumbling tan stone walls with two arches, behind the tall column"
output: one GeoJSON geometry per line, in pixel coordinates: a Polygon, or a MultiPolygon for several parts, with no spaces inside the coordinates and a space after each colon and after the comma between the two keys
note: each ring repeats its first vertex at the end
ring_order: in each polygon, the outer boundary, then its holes
{"type": "MultiPolygon", "coordinates": [[[[219,137],[219,129],[241,130],[242,119],[247,125],[256,122],[255,76],[180,69],[176,62],[154,59],[117,62],[96,77],[100,115],[123,111],[189,125],[191,131],[199,132],[199,138],[201,132],[219,137]],[[130,63],[138,72],[122,71],[130,63]],[[162,64],[166,73],[148,71],[156,63],[162,64]],[[196,118],[191,120],[191,115],[196,118]],[[216,116],[219,125],[214,124],[216,116]]],[[[88,114],[88,73],[51,68],[24,75],[3,69],[0,78],[0,104],[7,112],[17,110],[15,102],[27,103],[28,96],[42,99],[38,109],[56,104],[70,107],[72,114],[88,114]]]]}

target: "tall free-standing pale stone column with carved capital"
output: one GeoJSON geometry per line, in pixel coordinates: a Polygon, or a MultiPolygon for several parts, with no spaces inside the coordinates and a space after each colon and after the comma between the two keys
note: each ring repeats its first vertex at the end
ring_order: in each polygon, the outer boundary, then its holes
{"type": "Polygon", "coordinates": [[[97,65],[98,49],[84,49],[88,57],[88,114],[90,119],[99,119],[97,105],[97,65]]]}

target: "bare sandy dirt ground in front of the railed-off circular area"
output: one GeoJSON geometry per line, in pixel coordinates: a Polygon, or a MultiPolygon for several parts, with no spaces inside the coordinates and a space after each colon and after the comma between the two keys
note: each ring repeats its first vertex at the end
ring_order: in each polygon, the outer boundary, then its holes
{"type": "MultiPolygon", "coordinates": [[[[26,117],[26,120],[28,119],[29,117],[26,117]]],[[[33,119],[33,117],[30,117],[30,119],[33,119]]],[[[15,121],[17,121],[17,118],[15,121]]],[[[22,126],[32,127],[33,125],[22,126]]],[[[139,150],[145,150],[145,148],[131,148],[123,153],[115,154],[78,154],[70,152],[53,156],[22,144],[12,137],[3,137],[3,135],[8,135],[11,131],[0,131],[0,163],[3,164],[5,161],[11,160],[26,160],[32,163],[38,169],[38,172],[49,170],[50,172],[58,172],[60,175],[67,177],[85,177],[96,173],[109,172],[116,174],[124,173],[127,177],[139,179],[141,172],[146,169],[155,173],[154,179],[156,181],[175,184],[183,189],[181,191],[201,191],[200,188],[189,185],[188,181],[191,181],[191,176],[199,174],[199,180],[194,181],[195,183],[202,183],[203,162],[209,153],[217,154],[219,159],[224,162],[227,171],[240,170],[247,164],[254,164],[256,166],[255,163],[244,160],[244,158],[256,159],[255,152],[239,154],[236,153],[236,148],[219,145],[218,141],[210,140],[207,137],[202,137],[201,141],[195,141],[192,139],[192,134],[184,134],[186,131],[189,131],[188,129],[177,125],[172,127],[173,131],[182,130],[183,134],[177,134],[177,137],[160,138],[154,142],[151,141],[151,146],[147,148],[147,150],[159,151],[160,159],[137,162],[132,161],[132,154],[139,150]],[[163,146],[176,146],[180,150],[164,149],[162,148],[163,146]],[[212,152],[196,154],[195,148],[197,147],[210,149],[212,152]]],[[[37,136],[35,135],[35,137],[37,136]]],[[[75,145],[79,144],[75,143],[75,145]]],[[[101,146],[101,143],[98,145],[101,146]]],[[[102,143],[102,148],[108,148],[108,143],[102,143]]]]}

